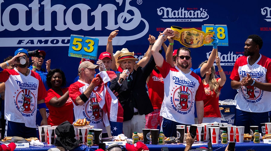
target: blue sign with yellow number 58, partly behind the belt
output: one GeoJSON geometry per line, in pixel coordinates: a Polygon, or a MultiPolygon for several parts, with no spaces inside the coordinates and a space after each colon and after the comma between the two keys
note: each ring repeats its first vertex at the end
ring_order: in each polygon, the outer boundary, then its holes
{"type": "MultiPolygon", "coordinates": [[[[204,31],[205,33],[214,31],[216,37],[218,38],[218,46],[229,46],[227,25],[204,24],[202,26],[202,31],[204,31]]],[[[208,43],[204,45],[212,45],[212,44],[208,43]]]]}

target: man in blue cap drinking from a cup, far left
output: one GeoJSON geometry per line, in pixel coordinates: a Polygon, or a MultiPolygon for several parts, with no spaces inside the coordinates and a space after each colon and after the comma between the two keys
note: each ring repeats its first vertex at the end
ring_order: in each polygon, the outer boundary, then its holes
{"type": "Polygon", "coordinates": [[[47,125],[46,105],[44,98],[47,95],[41,77],[28,69],[28,51],[19,48],[15,56],[0,64],[4,69],[0,72],[0,82],[5,82],[5,119],[6,136],[19,136],[24,138],[37,137],[36,113],[39,109],[42,120],[41,126],[47,125]],[[23,61],[17,58],[23,57],[23,61]],[[5,69],[15,64],[14,69],[5,69]],[[34,121],[34,122],[33,122],[34,121]]]}

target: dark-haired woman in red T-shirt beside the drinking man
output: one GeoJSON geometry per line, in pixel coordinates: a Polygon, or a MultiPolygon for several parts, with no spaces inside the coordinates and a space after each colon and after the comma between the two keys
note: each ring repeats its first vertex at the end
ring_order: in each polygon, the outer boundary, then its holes
{"type": "Polygon", "coordinates": [[[69,97],[66,85],[66,77],[60,69],[53,69],[47,74],[47,85],[50,88],[47,91],[45,103],[49,109],[48,125],[60,125],[64,121],[73,123],[73,102],[69,97]]]}

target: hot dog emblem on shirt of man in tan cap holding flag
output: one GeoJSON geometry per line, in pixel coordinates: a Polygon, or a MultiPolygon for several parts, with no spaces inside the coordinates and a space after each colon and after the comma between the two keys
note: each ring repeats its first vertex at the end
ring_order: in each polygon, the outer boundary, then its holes
{"type": "Polygon", "coordinates": [[[102,109],[100,109],[100,106],[97,102],[96,97],[94,96],[93,97],[90,96],[90,97],[91,97],[90,100],[87,101],[85,111],[83,111],[83,116],[88,121],[92,121],[93,124],[97,124],[100,122],[102,118],[102,109]]]}

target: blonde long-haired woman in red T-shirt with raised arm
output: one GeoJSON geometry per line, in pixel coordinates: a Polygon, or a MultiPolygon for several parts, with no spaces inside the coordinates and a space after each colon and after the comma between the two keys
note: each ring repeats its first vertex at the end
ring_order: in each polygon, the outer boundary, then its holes
{"type": "MultiPolygon", "coordinates": [[[[201,67],[204,63],[207,63],[207,60],[201,63],[199,67],[201,67]]],[[[206,72],[205,79],[202,80],[206,94],[206,99],[203,100],[204,102],[204,115],[202,121],[203,123],[221,122],[218,100],[220,95],[220,89],[226,82],[226,75],[220,66],[220,58],[218,56],[216,57],[216,64],[220,78],[218,78],[218,76],[215,73],[215,67],[212,66],[206,72]]]]}

